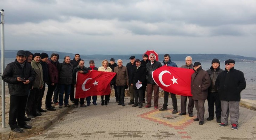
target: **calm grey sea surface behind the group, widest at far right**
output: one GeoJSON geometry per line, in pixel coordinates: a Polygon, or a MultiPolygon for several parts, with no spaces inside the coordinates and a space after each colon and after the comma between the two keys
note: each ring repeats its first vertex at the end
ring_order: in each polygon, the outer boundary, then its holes
{"type": "MultiPolygon", "coordinates": [[[[81,58],[82,59],[82,58],[81,58]]],[[[0,59],[1,60],[1,59],[0,59]]],[[[13,62],[15,58],[6,58],[5,59],[5,67],[7,64],[13,62]]],[[[163,60],[160,60],[162,62],[163,60]]],[[[197,60],[193,60],[193,62],[196,62],[197,60]]],[[[115,61],[117,63],[117,59],[115,61]]],[[[130,60],[123,60],[123,65],[126,66],[127,63],[129,63],[130,60]]],[[[102,66],[102,60],[95,60],[95,66],[101,67],[102,66]]],[[[180,67],[181,65],[185,64],[185,61],[175,61],[175,63],[180,67]]],[[[211,61],[200,61],[202,64],[202,68],[204,70],[208,70],[211,67],[211,61]]],[[[1,61],[0,61],[1,64],[1,61]]],[[[0,65],[0,67],[2,64],[0,65]]],[[[89,67],[89,60],[85,60],[85,67],[89,67]]],[[[221,69],[225,69],[224,62],[221,62],[221,69]]],[[[253,99],[256,100],[256,63],[244,63],[244,62],[237,62],[235,63],[235,69],[241,70],[244,73],[244,77],[247,83],[246,89],[244,89],[243,92],[241,92],[241,98],[244,99],[253,99]]],[[[0,69],[1,70],[1,69],[0,69]]],[[[1,72],[2,73],[2,72],[1,72]]]]}

